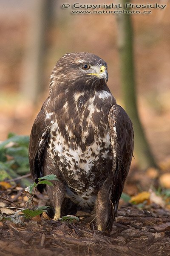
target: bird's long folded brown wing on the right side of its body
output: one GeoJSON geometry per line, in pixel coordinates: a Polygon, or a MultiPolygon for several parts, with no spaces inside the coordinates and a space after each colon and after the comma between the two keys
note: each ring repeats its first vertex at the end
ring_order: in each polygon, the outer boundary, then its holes
{"type": "Polygon", "coordinates": [[[125,179],[130,169],[133,156],[133,127],[125,110],[115,104],[111,108],[108,121],[111,131],[113,151],[113,183],[111,201],[114,207],[113,218],[116,215],[119,199],[123,191],[125,179]]]}

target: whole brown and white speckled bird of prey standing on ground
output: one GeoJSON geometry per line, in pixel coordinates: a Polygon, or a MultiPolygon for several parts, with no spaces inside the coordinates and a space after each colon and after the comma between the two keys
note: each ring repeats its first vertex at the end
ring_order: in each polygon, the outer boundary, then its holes
{"type": "Polygon", "coordinates": [[[97,229],[110,233],[132,160],[133,128],[107,81],[107,64],[97,55],[71,52],[57,61],[31,130],[29,163],[36,182],[57,175],[53,187],[46,185],[54,220],[69,199],[94,210],[97,229]]]}

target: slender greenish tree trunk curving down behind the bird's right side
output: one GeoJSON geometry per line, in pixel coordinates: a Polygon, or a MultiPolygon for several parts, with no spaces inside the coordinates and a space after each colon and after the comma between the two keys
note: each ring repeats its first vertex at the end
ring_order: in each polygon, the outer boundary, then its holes
{"type": "MultiPolygon", "coordinates": [[[[122,6],[125,6],[126,2],[126,0],[119,1],[122,6]]],[[[147,169],[148,167],[157,168],[156,160],[150,150],[137,108],[133,60],[133,27],[130,16],[131,15],[129,14],[121,14],[117,17],[122,96],[125,103],[125,109],[133,122],[135,133],[134,151],[137,156],[139,166],[141,169],[147,169]]]]}

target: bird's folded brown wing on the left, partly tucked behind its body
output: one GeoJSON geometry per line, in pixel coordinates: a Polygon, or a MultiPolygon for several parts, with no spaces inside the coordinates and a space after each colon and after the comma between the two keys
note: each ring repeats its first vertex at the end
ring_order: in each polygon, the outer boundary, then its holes
{"type": "Polygon", "coordinates": [[[45,118],[45,109],[42,107],[34,121],[29,141],[29,164],[33,180],[44,176],[43,155],[51,125],[51,119],[45,118]]]}

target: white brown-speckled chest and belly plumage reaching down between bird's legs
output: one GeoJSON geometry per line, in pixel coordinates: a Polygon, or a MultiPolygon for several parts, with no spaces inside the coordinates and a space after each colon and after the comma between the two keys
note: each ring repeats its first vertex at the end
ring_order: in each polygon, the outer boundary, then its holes
{"type": "MultiPolygon", "coordinates": [[[[111,108],[112,95],[102,91],[89,98],[83,105],[84,110],[88,110],[87,115],[85,111],[81,113],[78,111],[78,102],[82,94],[75,94],[74,97],[76,102],[75,111],[77,110],[78,113],[79,124],[74,127],[74,120],[66,120],[66,134],[62,136],[62,132],[59,130],[59,121],[56,120],[51,126],[48,153],[51,158],[53,158],[53,155],[56,157],[56,166],[67,183],[67,196],[82,207],[91,207],[94,205],[96,198],[94,193],[96,175],[99,176],[100,172],[103,175],[102,172],[104,172],[105,166],[112,159],[108,117],[105,116],[108,115],[111,108]],[[98,99],[101,102],[105,100],[110,102],[107,111],[102,104],[95,104],[95,102],[99,102],[98,99]],[[96,117],[97,115],[99,115],[98,118],[96,117]],[[94,119],[96,120],[95,122],[94,119]],[[82,125],[83,123],[86,125],[82,125]],[[76,129],[80,131],[79,140],[81,140],[81,144],[76,140],[74,133],[76,129]],[[89,132],[93,136],[90,144],[87,143],[89,132]]],[[[90,139],[88,138],[88,140],[90,139]]]]}

